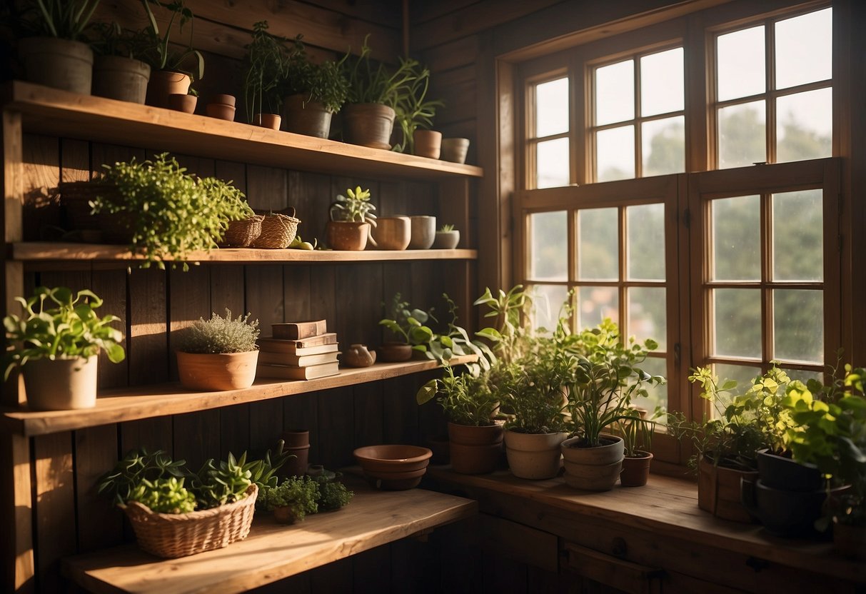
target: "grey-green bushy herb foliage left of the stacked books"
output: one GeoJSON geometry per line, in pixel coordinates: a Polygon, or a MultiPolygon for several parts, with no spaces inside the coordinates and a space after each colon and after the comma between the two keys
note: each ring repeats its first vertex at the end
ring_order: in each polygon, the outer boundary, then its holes
{"type": "Polygon", "coordinates": [[[249,321],[250,314],[232,320],[226,308],[225,318],[212,313],[210,320],[199,318],[191,326],[178,330],[178,350],[199,353],[255,351],[259,338],[259,320],[249,321]]]}

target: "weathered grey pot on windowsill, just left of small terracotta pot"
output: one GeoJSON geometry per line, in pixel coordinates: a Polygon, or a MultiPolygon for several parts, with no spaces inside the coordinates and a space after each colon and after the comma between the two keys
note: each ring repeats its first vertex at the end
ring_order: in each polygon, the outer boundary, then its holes
{"type": "Polygon", "coordinates": [[[623,439],[602,434],[602,445],[597,448],[579,447],[581,439],[572,437],[562,442],[565,482],[588,491],[611,490],[623,469],[623,439]]]}

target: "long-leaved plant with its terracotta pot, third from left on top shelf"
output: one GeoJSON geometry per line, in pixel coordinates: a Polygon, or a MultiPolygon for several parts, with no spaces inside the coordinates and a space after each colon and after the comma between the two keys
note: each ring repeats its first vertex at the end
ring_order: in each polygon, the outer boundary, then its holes
{"type": "Polygon", "coordinates": [[[204,56],[192,47],[192,25],[195,15],[192,14],[192,10],[186,8],[184,0],[173,0],[171,3],[141,0],[141,4],[147,16],[145,34],[149,40],[147,51],[142,59],[152,68],[151,81],[147,85],[146,103],[155,107],[168,107],[169,95],[186,94],[193,77],[196,79],[204,77],[204,56]],[[170,11],[168,23],[162,33],[151,9],[151,3],[170,11]],[[182,33],[187,23],[190,25],[189,41],[183,50],[175,51],[169,45],[171,29],[177,24],[178,32],[182,33]],[[188,66],[190,63],[194,64],[192,68],[188,66]]]}

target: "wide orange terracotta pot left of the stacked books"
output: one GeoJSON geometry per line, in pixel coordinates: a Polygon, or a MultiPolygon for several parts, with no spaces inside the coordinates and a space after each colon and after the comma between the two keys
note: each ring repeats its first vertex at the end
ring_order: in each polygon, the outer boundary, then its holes
{"type": "Polygon", "coordinates": [[[219,354],[178,351],[178,375],[187,390],[249,388],[255,381],[258,351],[219,354]]]}

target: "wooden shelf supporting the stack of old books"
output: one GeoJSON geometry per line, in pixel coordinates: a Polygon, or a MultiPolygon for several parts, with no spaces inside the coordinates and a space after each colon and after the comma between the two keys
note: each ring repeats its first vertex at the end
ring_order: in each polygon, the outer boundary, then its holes
{"type": "MultiPolygon", "coordinates": [[[[475,360],[475,355],[451,359],[452,365],[475,360]]],[[[363,369],[341,369],[339,375],[328,378],[281,382],[257,379],[252,387],[242,390],[218,392],[184,391],[177,382],[152,384],[100,392],[96,406],[79,410],[28,410],[26,408],[0,408],[0,429],[22,436],[42,436],[60,431],[96,427],[108,423],[122,423],[154,416],[182,415],[197,410],[210,410],[232,404],[243,404],[307,394],[308,392],[341,388],[380,379],[436,369],[436,361],[409,361],[407,363],[377,363],[363,369]]],[[[411,397],[407,395],[406,397],[411,397]]]]}

